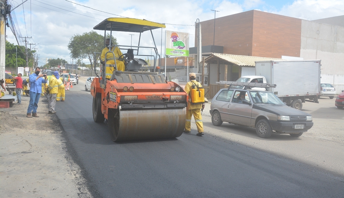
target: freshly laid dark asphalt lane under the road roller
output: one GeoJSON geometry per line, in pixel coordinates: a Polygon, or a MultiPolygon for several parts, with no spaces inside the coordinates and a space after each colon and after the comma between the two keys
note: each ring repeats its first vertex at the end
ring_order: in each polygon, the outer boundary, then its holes
{"type": "MultiPolygon", "coordinates": [[[[83,83],[66,91],[66,100],[57,102],[56,111],[68,152],[83,169],[94,197],[327,198],[344,194],[344,177],[210,133],[198,137],[195,128],[172,140],[114,143],[106,121],[93,121],[92,96],[83,83]]],[[[223,130],[206,120],[208,130],[223,130]]]]}

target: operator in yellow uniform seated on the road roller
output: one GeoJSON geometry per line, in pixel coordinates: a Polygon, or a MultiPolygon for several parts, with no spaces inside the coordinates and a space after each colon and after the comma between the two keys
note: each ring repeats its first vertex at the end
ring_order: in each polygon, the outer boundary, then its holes
{"type": "MultiPolygon", "coordinates": [[[[109,51],[110,39],[107,39],[105,41],[105,45],[106,45],[106,47],[101,52],[101,56],[100,56],[101,61],[103,61],[103,62],[105,61],[105,53],[109,51]]],[[[111,45],[112,45],[112,43],[111,43],[111,45]]],[[[116,57],[117,70],[124,72],[124,70],[125,70],[124,61],[120,61],[118,59],[120,56],[122,56],[122,52],[119,50],[119,48],[117,46],[115,48],[111,47],[111,50],[112,50],[112,52],[114,52],[115,57],[116,57]]],[[[106,64],[115,65],[114,54],[112,54],[111,52],[106,54],[106,64]]],[[[114,67],[106,67],[105,78],[110,79],[112,76],[112,73],[114,73],[114,67]]]]}

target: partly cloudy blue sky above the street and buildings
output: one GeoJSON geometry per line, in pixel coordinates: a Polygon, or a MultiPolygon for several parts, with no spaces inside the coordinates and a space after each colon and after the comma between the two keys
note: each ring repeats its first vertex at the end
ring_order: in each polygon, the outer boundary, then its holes
{"type": "MultiPolygon", "coordinates": [[[[7,0],[12,9],[25,0],[7,0]]],[[[344,0],[28,0],[15,8],[11,15],[17,19],[20,35],[31,37],[39,66],[46,58],[62,58],[72,63],[67,45],[76,34],[90,32],[110,17],[129,17],[165,23],[166,28],[153,30],[155,43],[164,57],[164,31],[190,33],[189,46],[194,46],[195,21],[206,21],[249,10],[260,10],[288,17],[316,20],[344,15],[344,0]],[[162,43],[162,44],[161,44],[162,43]]],[[[97,31],[104,35],[103,31],[97,31]]],[[[149,34],[149,33],[148,33],[149,34]]],[[[150,34],[142,34],[141,45],[153,46],[150,34]]],[[[6,29],[7,41],[17,45],[15,36],[6,29]]],[[[138,44],[139,33],[113,32],[121,45],[138,44]],[[131,40],[131,35],[132,40],[131,40]]],[[[23,38],[18,38],[25,45],[23,38]]],[[[28,45],[30,46],[30,45],[28,45]]],[[[150,54],[146,50],[142,53],[150,54]]],[[[125,52],[123,52],[125,53],[125,52]]],[[[141,57],[142,58],[142,57],[141,57]]],[[[73,61],[75,63],[75,60],[73,61]]],[[[87,59],[84,63],[89,64],[87,59]]]]}

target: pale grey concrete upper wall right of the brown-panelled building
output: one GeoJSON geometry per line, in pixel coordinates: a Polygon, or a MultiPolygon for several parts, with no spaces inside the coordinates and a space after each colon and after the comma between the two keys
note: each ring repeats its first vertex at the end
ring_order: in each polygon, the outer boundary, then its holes
{"type": "Polygon", "coordinates": [[[321,59],[322,74],[344,75],[344,27],[302,20],[300,57],[321,59]]]}

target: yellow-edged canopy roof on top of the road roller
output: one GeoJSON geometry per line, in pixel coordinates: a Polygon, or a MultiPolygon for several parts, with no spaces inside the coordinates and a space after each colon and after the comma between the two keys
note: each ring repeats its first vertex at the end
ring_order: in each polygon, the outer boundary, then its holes
{"type": "Polygon", "coordinates": [[[96,25],[94,30],[119,31],[119,32],[144,32],[158,28],[166,28],[163,23],[133,19],[133,18],[108,18],[96,25]]]}

